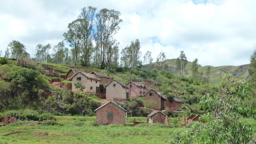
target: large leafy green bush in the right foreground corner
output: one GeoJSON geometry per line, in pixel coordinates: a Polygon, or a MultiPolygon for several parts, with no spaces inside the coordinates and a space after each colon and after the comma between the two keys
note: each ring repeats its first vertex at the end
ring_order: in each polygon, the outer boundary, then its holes
{"type": "Polygon", "coordinates": [[[224,75],[218,85],[218,93],[207,93],[202,97],[199,108],[207,110],[200,120],[205,124],[195,123],[192,130],[176,135],[170,142],[207,143],[207,144],[247,144],[255,143],[254,128],[240,121],[240,114],[256,116],[256,105],[245,103],[249,85],[242,79],[232,79],[224,75]]]}

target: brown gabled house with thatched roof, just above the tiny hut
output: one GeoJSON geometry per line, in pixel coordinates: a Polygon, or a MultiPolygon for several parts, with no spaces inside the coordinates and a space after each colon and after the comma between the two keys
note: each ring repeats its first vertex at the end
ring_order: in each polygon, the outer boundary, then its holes
{"type": "Polygon", "coordinates": [[[145,103],[150,104],[150,108],[154,108],[156,110],[164,109],[166,103],[166,97],[162,96],[161,93],[155,91],[154,89],[150,89],[144,95],[145,103]]]}

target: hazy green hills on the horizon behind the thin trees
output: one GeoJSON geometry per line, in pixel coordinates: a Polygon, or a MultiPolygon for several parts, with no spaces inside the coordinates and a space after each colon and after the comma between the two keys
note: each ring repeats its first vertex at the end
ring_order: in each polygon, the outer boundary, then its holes
{"type": "MultiPolygon", "coordinates": [[[[163,64],[168,65],[168,70],[172,73],[178,73],[177,67],[175,65],[176,59],[165,59],[163,61],[163,64]]],[[[153,63],[156,64],[156,63],[153,63]]],[[[198,71],[203,73],[202,78],[206,77],[206,71],[208,67],[211,68],[210,71],[210,83],[216,84],[220,82],[220,77],[224,74],[232,74],[234,77],[243,77],[244,79],[248,80],[250,79],[250,75],[248,73],[249,69],[249,64],[246,65],[238,65],[238,66],[233,66],[233,65],[225,65],[225,66],[218,66],[218,67],[213,67],[211,65],[206,65],[202,67],[201,65],[198,65],[198,71]]],[[[192,62],[188,61],[188,64],[186,65],[184,69],[184,73],[187,77],[191,75],[191,69],[192,69],[192,62]]]]}

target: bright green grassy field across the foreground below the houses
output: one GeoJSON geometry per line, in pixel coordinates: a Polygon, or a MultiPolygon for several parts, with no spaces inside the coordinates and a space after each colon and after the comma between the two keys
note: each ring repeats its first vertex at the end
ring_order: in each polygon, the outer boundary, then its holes
{"type": "MultiPolygon", "coordinates": [[[[57,125],[20,121],[0,127],[0,144],[166,144],[186,127],[172,124],[96,125],[96,117],[56,116],[57,125]],[[32,125],[32,124],[36,125],[32,125]]],[[[132,121],[129,118],[127,121],[132,121]]],[[[146,121],[136,117],[136,121],[146,121]]]]}

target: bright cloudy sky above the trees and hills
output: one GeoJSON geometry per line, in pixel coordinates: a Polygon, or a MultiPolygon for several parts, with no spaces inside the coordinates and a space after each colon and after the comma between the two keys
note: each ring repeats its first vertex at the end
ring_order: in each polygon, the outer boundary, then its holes
{"type": "Polygon", "coordinates": [[[12,40],[31,57],[39,43],[54,47],[87,6],[118,10],[119,49],[139,39],[142,61],[146,51],[154,61],[161,51],[166,59],[184,51],[202,66],[243,65],[256,49],[255,0],[1,0],[1,56],[12,40]]]}

